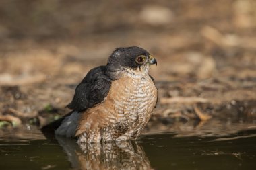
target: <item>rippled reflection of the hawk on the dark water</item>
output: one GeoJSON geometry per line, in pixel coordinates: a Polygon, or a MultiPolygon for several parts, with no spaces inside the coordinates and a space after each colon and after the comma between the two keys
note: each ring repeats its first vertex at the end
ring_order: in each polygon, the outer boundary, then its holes
{"type": "Polygon", "coordinates": [[[85,144],[56,136],[73,168],[79,169],[152,169],[137,142],[85,144]]]}

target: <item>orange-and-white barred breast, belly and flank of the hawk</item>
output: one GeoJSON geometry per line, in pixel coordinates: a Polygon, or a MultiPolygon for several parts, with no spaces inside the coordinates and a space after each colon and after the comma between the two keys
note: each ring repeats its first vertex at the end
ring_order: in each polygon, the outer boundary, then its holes
{"type": "Polygon", "coordinates": [[[79,122],[79,142],[137,138],[156,105],[157,89],[147,75],[113,81],[106,99],[86,110],[79,122]]]}

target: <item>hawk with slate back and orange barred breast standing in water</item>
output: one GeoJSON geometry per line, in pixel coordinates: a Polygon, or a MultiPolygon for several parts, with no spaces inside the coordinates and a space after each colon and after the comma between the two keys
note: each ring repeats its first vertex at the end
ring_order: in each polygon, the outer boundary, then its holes
{"type": "Polygon", "coordinates": [[[77,85],[67,105],[72,111],[55,122],[55,135],[77,138],[78,144],[135,140],[158,100],[149,75],[154,64],[143,48],[116,48],[106,65],[91,69],[77,85]]]}

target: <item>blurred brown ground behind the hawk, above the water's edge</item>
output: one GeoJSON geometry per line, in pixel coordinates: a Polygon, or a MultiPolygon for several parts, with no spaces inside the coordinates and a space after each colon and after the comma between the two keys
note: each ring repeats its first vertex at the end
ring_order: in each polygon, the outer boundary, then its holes
{"type": "Polygon", "coordinates": [[[5,126],[67,114],[75,86],[120,46],[158,60],[152,122],[256,123],[254,0],[1,0],[0,40],[5,126]]]}

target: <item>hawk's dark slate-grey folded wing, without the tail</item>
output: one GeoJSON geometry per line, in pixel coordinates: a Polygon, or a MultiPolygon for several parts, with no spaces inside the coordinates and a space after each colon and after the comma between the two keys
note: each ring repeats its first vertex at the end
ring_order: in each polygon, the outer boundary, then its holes
{"type": "Polygon", "coordinates": [[[101,103],[111,86],[111,79],[105,75],[105,66],[96,67],[88,72],[86,77],[75,89],[75,95],[68,108],[82,112],[101,103]]]}

